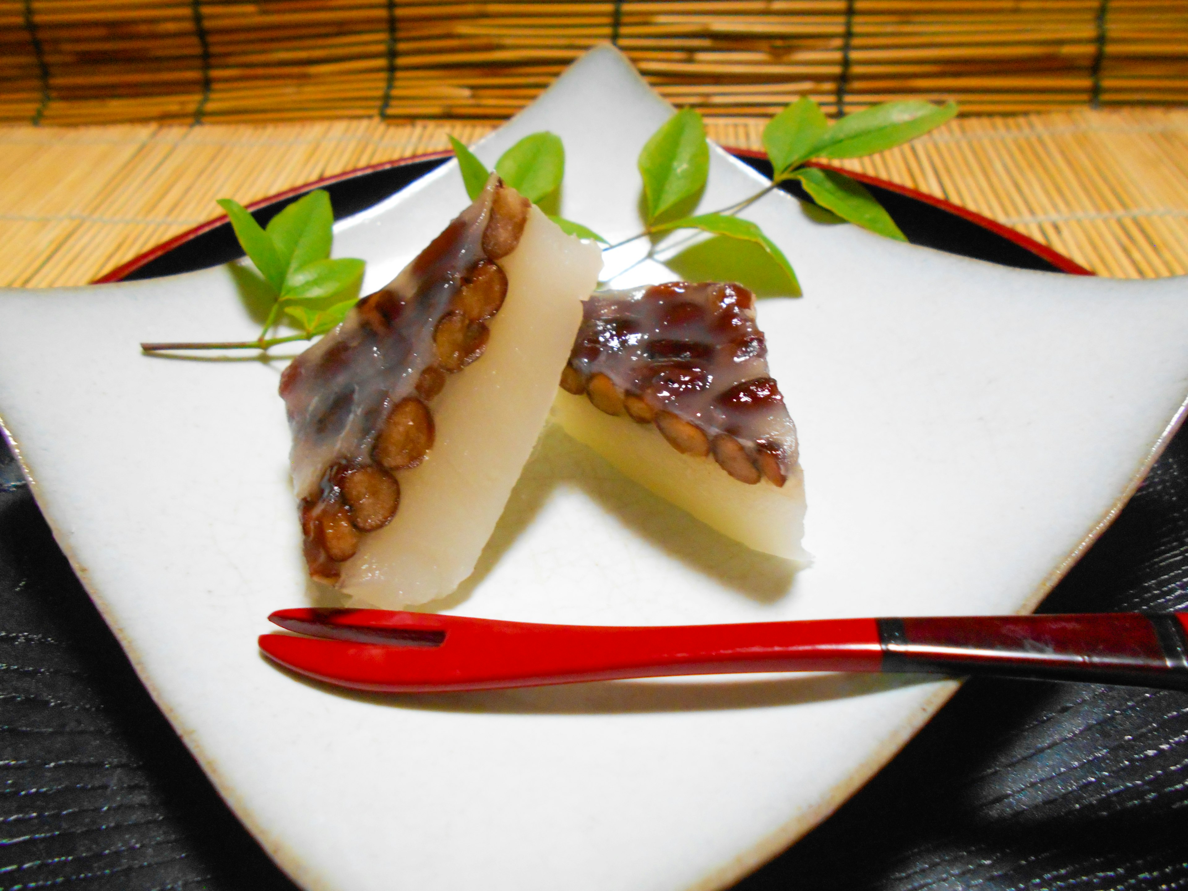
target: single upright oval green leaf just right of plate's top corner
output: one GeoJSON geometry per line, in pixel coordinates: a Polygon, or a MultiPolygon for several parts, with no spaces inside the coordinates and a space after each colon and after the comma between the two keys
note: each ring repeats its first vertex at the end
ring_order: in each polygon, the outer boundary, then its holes
{"type": "Polygon", "coordinates": [[[709,144],[701,115],[682,108],[639,152],[647,225],[678,201],[696,195],[709,176],[709,144]]]}

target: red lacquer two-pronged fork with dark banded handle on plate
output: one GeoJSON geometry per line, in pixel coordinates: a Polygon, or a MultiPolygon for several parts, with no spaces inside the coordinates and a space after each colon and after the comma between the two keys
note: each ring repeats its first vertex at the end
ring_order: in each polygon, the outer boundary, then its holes
{"type": "Polygon", "coordinates": [[[912,671],[1188,690],[1188,613],[532,625],[383,609],[280,609],[260,649],[356,690],[436,693],[672,675],[912,671]]]}

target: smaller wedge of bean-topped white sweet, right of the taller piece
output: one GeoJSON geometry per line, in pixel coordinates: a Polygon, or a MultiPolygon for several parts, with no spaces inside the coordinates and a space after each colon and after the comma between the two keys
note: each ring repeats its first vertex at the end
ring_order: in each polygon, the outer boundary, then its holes
{"type": "Polygon", "coordinates": [[[803,562],[796,428],[735,284],[598,291],[554,417],[643,486],[748,548],[803,562]]]}

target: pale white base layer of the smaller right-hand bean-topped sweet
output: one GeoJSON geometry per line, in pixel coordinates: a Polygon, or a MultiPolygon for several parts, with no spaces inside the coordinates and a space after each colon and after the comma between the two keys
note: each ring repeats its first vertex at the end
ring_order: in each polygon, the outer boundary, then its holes
{"type": "Polygon", "coordinates": [[[783,486],[739,482],[713,457],[684,455],[651,424],[595,409],[584,396],[557,391],[552,417],[615,469],[688,511],[707,526],[764,554],[810,562],[804,537],[804,474],[800,465],[783,486]]]}

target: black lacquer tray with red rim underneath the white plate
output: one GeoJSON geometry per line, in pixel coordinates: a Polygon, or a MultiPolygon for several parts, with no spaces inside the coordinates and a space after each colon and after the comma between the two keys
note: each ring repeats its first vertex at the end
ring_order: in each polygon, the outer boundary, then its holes
{"type": "MultiPolygon", "coordinates": [[[[762,158],[739,156],[764,169],[762,158]]],[[[316,185],[346,216],[444,157],[316,185]]],[[[1083,273],[977,214],[865,182],[916,244],[1083,273]]],[[[253,211],[264,222],[310,188],[253,211]]],[[[152,278],[238,255],[230,227],[211,223],[101,280],[152,278]]],[[[1173,440],[1041,611],[1177,608],[1188,608],[1188,432],[1173,440]]],[[[236,822],[140,685],[2,446],[0,653],[0,889],[295,887],[236,822]]],[[[1182,887],[1186,765],[1188,695],[971,681],[832,819],[737,889],[1182,887]]],[[[398,874],[393,864],[394,884],[398,874]]]]}

